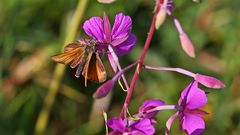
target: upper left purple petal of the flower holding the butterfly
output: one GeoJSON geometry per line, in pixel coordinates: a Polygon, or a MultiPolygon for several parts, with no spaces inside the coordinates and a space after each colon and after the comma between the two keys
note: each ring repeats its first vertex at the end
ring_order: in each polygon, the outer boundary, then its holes
{"type": "Polygon", "coordinates": [[[83,24],[84,31],[92,38],[103,43],[103,20],[100,17],[91,17],[83,24]]]}

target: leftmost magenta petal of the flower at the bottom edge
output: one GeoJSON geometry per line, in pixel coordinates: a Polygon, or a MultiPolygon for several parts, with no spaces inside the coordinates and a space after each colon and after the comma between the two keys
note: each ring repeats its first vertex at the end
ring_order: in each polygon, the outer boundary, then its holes
{"type": "Polygon", "coordinates": [[[126,129],[125,123],[122,118],[111,118],[107,121],[107,125],[114,131],[124,132],[126,129]]]}

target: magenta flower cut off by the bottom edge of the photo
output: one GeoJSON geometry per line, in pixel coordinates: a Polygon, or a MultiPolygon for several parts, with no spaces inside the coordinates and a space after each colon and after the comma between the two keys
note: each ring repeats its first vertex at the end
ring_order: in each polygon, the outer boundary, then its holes
{"type": "Polygon", "coordinates": [[[149,119],[128,120],[120,117],[111,118],[107,125],[113,129],[109,135],[153,135],[155,129],[149,119]]]}

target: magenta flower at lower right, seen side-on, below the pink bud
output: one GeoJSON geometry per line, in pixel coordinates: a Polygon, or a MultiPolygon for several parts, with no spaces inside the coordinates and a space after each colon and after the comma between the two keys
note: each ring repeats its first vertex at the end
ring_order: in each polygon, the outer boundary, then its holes
{"type": "Polygon", "coordinates": [[[198,83],[193,81],[181,93],[178,105],[181,109],[172,115],[167,123],[167,133],[170,130],[173,120],[179,116],[180,127],[188,135],[199,135],[205,129],[205,123],[202,116],[207,114],[199,108],[205,106],[207,97],[203,90],[198,88],[198,83]]]}

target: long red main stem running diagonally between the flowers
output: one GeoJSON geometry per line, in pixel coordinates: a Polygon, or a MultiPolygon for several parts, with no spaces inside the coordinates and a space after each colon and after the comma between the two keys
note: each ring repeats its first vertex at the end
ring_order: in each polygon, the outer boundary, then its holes
{"type": "MultiPolygon", "coordinates": [[[[158,2],[163,3],[163,0],[158,0],[158,2]]],[[[139,77],[139,72],[140,72],[140,70],[142,69],[142,66],[143,66],[143,60],[144,60],[144,58],[145,58],[145,56],[148,52],[148,48],[149,48],[151,40],[152,40],[152,36],[153,36],[154,30],[155,30],[156,16],[157,16],[157,13],[159,11],[160,4],[157,4],[156,6],[157,7],[156,7],[155,12],[154,12],[151,27],[149,29],[148,36],[147,36],[147,39],[145,41],[143,51],[142,51],[141,56],[138,60],[138,66],[137,66],[137,68],[135,70],[135,73],[133,75],[133,78],[132,78],[132,81],[131,81],[131,84],[130,84],[130,88],[127,92],[127,96],[126,96],[126,99],[124,101],[122,111],[120,113],[120,117],[122,117],[122,118],[125,118],[127,116],[127,108],[128,108],[129,102],[130,102],[131,97],[132,97],[134,86],[135,86],[136,81],[139,77]]]]}

